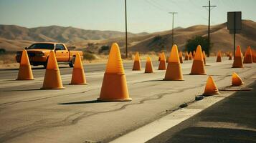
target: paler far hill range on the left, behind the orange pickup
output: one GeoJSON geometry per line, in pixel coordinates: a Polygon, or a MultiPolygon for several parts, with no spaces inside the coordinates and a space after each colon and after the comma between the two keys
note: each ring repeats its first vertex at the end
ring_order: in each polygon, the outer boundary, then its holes
{"type": "MultiPolygon", "coordinates": [[[[128,36],[141,36],[148,34],[128,33],[128,36]]],[[[28,46],[34,41],[57,41],[63,43],[76,43],[86,40],[104,40],[125,36],[120,31],[99,31],[77,29],[71,26],[42,26],[28,29],[16,25],[0,25],[0,48],[14,50],[17,46],[28,46]]]]}

